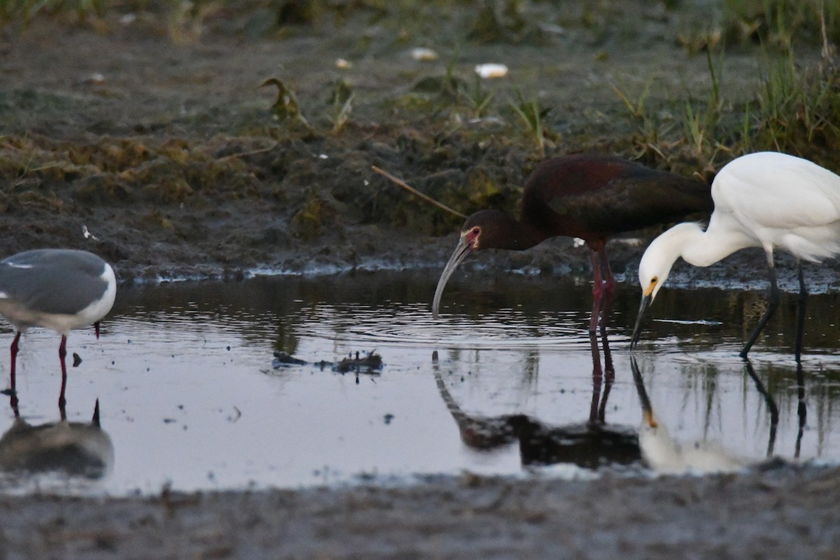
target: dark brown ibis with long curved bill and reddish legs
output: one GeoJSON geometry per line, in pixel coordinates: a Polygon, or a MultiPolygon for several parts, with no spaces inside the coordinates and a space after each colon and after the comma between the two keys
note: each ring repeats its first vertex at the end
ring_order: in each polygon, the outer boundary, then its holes
{"type": "Polygon", "coordinates": [[[480,249],[530,249],[545,239],[569,236],[585,240],[592,261],[592,318],[606,324],[607,304],[616,281],[604,249],[616,233],[674,222],[695,212],[711,212],[711,187],[703,181],[652,170],[602,154],[563,155],[533,171],[522,193],[518,220],[498,210],[481,210],[467,218],[458,247],[438,280],[433,317],[458,264],[480,249]]]}

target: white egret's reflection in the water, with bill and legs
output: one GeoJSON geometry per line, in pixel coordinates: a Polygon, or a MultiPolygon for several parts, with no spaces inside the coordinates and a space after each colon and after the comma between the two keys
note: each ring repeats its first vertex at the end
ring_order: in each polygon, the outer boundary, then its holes
{"type": "MultiPolygon", "coordinates": [[[[718,442],[694,442],[683,445],[672,437],[664,423],[654,415],[648,392],[645,389],[642,373],[634,356],[630,357],[630,367],[633,369],[633,381],[636,384],[638,398],[642,406],[642,426],[639,428],[638,442],[642,455],[650,468],[662,474],[709,474],[727,473],[748,467],[751,463],[758,463],[748,458],[738,456],[725,449],[718,442]]],[[[747,374],[753,380],[756,390],[764,398],[764,403],[770,416],[769,437],[767,444],[767,458],[774,453],[775,438],[779,424],[779,408],[772,395],[765,389],[764,384],[755,374],[752,364],[745,362],[747,374]]],[[[798,385],[799,431],[796,436],[794,458],[799,458],[801,438],[805,427],[805,385],[801,365],[796,372],[798,385]]]]}

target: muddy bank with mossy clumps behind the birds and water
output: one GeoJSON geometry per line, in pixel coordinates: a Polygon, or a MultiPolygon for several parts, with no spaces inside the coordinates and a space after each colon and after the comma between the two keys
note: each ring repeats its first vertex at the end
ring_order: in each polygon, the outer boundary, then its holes
{"type": "MultiPolygon", "coordinates": [[[[370,165],[464,213],[516,212],[525,177],[552,154],[607,152],[708,179],[731,154],[706,160],[673,146],[663,158],[617,95],[652,104],[706,95],[705,58],[675,39],[692,6],[639,8],[642,18],[615,7],[593,24],[585,13],[534,4],[517,34],[501,18],[499,40],[467,34],[476,25],[469,8],[433,25],[432,13],[419,13],[419,29],[351,10],[278,35],[253,34],[247,14],[212,12],[202,34],[181,43],[144,13],[8,24],[0,29],[3,253],[85,247],[123,280],[438,267],[462,220],[370,165]],[[542,25],[548,16],[568,25],[542,25]],[[417,45],[438,59],[415,60],[417,45]],[[509,75],[475,81],[473,66],[485,61],[506,63],[509,75]],[[278,110],[275,86],[260,87],[270,78],[295,94],[297,113],[278,110]],[[512,108],[516,92],[547,111],[544,155],[512,108]],[[341,113],[350,95],[352,112],[341,113]],[[101,241],[82,238],[82,225],[101,241]]],[[[754,50],[727,53],[730,98],[750,97],[759,77],[754,50]]],[[[678,128],[679,115],[670,118],[666,128],[678,128]]],[[[570,245],[482,262],[582,273],[588,258],[570,245]]],[[[614,249],[617,272],[633,269],[640,251],[614,249]]],[[[727,266],[690,274],[740,277],[727,266]]]]}

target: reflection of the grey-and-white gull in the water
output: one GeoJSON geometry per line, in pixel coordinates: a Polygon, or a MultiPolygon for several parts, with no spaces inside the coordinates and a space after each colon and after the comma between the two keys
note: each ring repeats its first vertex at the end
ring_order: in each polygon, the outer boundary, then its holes
{"type": "MultiPolygon", "coordinates": [[[[64,384],[62,384],[62,395],[64,384]]],[[[71,478],[102,479],[113,468],[113,443],[102,430],[99,400],[90,422],[67,421],[66,405],[60,401],[60,420],[33,426],[18,410],[14,386],[9,396],[14,421],[0,437],[0,473],[60,474],[71,478]]]]}

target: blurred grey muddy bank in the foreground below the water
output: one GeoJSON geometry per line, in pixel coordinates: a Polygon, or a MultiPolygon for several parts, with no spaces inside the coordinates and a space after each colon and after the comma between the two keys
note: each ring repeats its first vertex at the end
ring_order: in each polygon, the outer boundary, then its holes
{"type": "Polygon", "coordinates": [[[832,557],[837,469],[0,499],[9,558],[832,557]]]}

